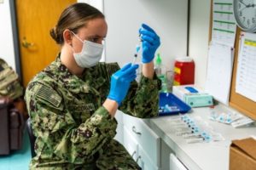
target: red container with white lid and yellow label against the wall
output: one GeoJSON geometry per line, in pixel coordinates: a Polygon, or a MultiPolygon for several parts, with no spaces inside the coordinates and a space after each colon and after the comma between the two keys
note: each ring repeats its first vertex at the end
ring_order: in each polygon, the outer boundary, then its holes
{"type": "Polygon", "coordinates": [[[190,57],[177,58],[174,64],[173,85],[194,84],[195,63],[190,57]]]}

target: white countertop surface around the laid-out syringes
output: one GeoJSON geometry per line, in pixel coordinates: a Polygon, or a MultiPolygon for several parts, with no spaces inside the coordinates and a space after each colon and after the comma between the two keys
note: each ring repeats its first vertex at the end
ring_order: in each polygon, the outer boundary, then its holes
{"type": "Polygon", "coordinates": [[[210,110],[207,107],[193,109],[189,116],[200,116],[204,122],[208,122],[213,127],[215,132],[221,133],[224,140],[188,144],[183,137],[175,135],[170,127],[170,121],[177,116],[161,116],[146,122],[172,148],[178,159],[192,170],[228,170],[231,140],[256,135],[255,126],[235,128],[228,124],[211,121],[210,110]]]}

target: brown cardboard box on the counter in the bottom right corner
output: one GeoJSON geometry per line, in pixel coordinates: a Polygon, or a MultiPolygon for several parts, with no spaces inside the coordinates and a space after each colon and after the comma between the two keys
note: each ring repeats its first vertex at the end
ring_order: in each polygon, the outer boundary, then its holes
{"type": "Polygon", "coordinates": [[[230,170],[256,169],[256,140],[233,140],[230,145],[230,170]]]}

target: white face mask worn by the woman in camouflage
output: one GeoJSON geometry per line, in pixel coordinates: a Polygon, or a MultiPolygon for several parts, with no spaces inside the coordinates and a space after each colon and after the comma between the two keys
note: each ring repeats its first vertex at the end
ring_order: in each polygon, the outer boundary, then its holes
{"type": "MultiPolygon", "coordinates": [[[[73,33],[81,42],[81,38],[73,33]]],[[[100,59],[102,59],[103,45],[96,42],[90,42],[84,40],[82,51],[80,53],[74,53],[74,59],[76,63],[82,68],[90,68],[96,65],[100,59]]]]}

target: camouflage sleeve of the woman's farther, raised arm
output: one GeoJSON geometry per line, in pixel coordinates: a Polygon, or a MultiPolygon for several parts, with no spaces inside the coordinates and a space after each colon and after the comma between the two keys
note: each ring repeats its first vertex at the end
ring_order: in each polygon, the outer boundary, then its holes
{"type": "Polygon", "coordinates": [[[131,88],[119,109],[131,116],[148,118],[158,116],[159,90],[161,82],[154,73],[153,79],[143,77],[131,83],[131,88]]]}

